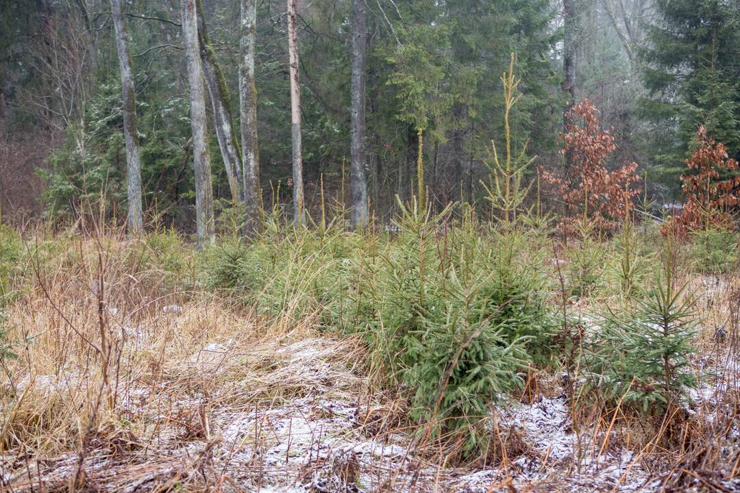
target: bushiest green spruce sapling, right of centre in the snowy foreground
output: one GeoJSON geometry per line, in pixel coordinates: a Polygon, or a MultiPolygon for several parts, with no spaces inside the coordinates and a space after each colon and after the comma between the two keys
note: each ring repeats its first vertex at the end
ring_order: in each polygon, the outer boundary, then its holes
{"type": "Polygon", "coordinates": [[[424,352],[408,374],[416,392],[411,417],[425,422],[431,438],[464,438],[463,452],[485,449],[490,435],[481,426],[491,404],[522,386],[528,365],[526,337],[508,338],[503,304],[489,313],[481,302],[490,276],[468,287],[452,273],[443,316],[423,318],[424,352]]]}

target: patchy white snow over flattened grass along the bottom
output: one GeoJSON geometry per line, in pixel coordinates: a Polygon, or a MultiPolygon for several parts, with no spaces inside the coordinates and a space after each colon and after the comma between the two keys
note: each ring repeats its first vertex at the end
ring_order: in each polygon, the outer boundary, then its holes
{"type": "MultiPolygon", "coordinates": [[[[192,353],[190,363],[195,367],[215,364],[218,371],[222,364],[242,364],[244,360],[235,358],[235,346],[234,341],[205,344],[192,353]]],[[[119,452],[127,446],[124,438],[96,438],[84,458],[87,480],[95,482],[100,491],[129,493],[163,484],[176,489],[177,484],[203,477],[221,480],[219,487],[224,492],[483,493],[511,491],[511,487],[514,491],[631,493],[661,489],[661,477],[649,475],[639,457],[617,441],[602,451],[602,436],[594,440],[589,430],[576,435],[563,396],[541,396],[530,404],[514,402],[497,409],[493,418],[498,429],[515,433],[522,441],[508,462],[483,469],[430,463],[412,449],[411,434],[399,430],[378,433],[367,426],[371,414],[379,409],[376,414],[389,414],[388,408],[383,402],[369,403],[364,398],[358,404],[358,396],[348,389],[356,389],[363,377],[337,368],[332,362],[336,350],[335,343],[322,339],[305,339],[273,350],[270,358],[275,367],[270,372],[282,372],[286,382],[303,384],[306,392],[252,408],[218,404],[226,395],[178,396],[172,409],[189,409],[193,414],[203,409],[206,413],[207,426],[194,430],[192,422],[186,437],[182,427],[178,428],[181,418],[171,410],[143,421],[149,426],[171,426],[169,432],[159,433],[155,443],[146,446],[129,443],[131,448],[123,456],[119,452]],[[317,374],[330,378],[317,378],[317,374]],[[337,392],[329,392],[332,388],[337,392]]],[[[724,364],[724,373],[704,381],[692,398],[699,406],[716,407],[730,374],[734,378],[736,372],[734,360],[724,364]]],[[[65,391],[58,379],[47,375],[37,375],[33,386],[47,393],[65,391]]],[[[149,404],[164,392],[164,387],[135,383],[124,389],[118,406],[129,415],[152,412],[149,404]]],[[[740,435],[737,424],[732,430],[740,435]]],[[[69,482],[78,460],[70,452],[29,466],[13,455],[4,455],[0,456],[0,479],[23,492],[38,486],[38,480],[28,481],[38,474],[52,489],[69,482]]],[[[215,483],[208,484],[215,487],[215,483]]],[[[736,482],[722,484],[729,491],[739,491],[736,482]]]]}

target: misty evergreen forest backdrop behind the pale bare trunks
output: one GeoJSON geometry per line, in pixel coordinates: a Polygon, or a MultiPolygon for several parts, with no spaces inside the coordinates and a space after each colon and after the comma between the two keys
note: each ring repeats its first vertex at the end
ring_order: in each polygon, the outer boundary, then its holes
{"type": "MultiPolygon", "coordinates": [[[[64,218],[101,197],[111,213],[126,216],[126,106],[115,3],[125,14],[144,214],[192,230],[198,145],[178,0],[0,2],[4,220],[42,213],[64,218]]],[[[240,166],[224,162],[229,142],[239,163],[243,153],[255,154],[264,207],[284,205],[290,215],[295,145],[286,1],[196,3],[206,83],[215,81],[205,105],[215,207],[228,208],[232,194],[242,193],[228,171],[238,174],[240,166]],[[241,27],[246,8],[256,9],[252,48],[245,47],[241,27]],[[245,50],[253,50],[257,92],[258,142],[251,143],[243,138],[245,50]],[[212,104],[219,90],[233,137],[221,142],[216,129],[223,128],[223,115],[212,104]]],[[[608,168],[638,163],[648,194],[661,205],[682,197],[679,175],[699,126],[724,143],[730,157],[740,157],[736,1],[293,3],[301,181],[309,212],[320,207],[323,192],[343,205],[365,197],[370,211],[387,220],[397,211],[394,197],[408,200],[417,188],[419,149],[433,207],[462,201],[485,210],[481,180],[489,174],[491,142],[505,140],[502,74],[511,54],[521,80],[521,99],[510,115],[512,147],[526,149],[525,162],[536,156],[525,169],[527,181],[538,166],[568,174],[570,158],[559,152],[559,136],[567,110],[585,99],[614,137],[608,168]]]]}

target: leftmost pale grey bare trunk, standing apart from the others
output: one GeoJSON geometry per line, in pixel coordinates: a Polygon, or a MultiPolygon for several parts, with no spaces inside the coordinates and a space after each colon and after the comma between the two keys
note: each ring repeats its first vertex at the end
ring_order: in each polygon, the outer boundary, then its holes
{"type": "Polygon", "coordinates": [[[128,177],[127,200],[129,206],[128,225],[130,231],[141,231],[141,160],[136,135],[136,95],[133,69],[129,55],[128,35],[121,0],[110,0],[110,10],[115,28],[115,45],[118,48],[118,65],[121,68],[121,92],[123,92],[124,139],[126,140],[126,173],[128,177]]]}

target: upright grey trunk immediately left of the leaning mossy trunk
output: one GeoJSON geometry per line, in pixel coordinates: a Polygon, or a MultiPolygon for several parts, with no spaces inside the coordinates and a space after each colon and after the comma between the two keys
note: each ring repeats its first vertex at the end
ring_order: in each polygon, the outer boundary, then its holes
{"type": "Polygon", "coordinates": [[[211,158],[206,144],[206,95],[198,44],[195,0],[181,0],[185,58],[190,85],[190,128],[195,164],[195,224],[198,242],[213,239],[213,186],[211,158]]]}

